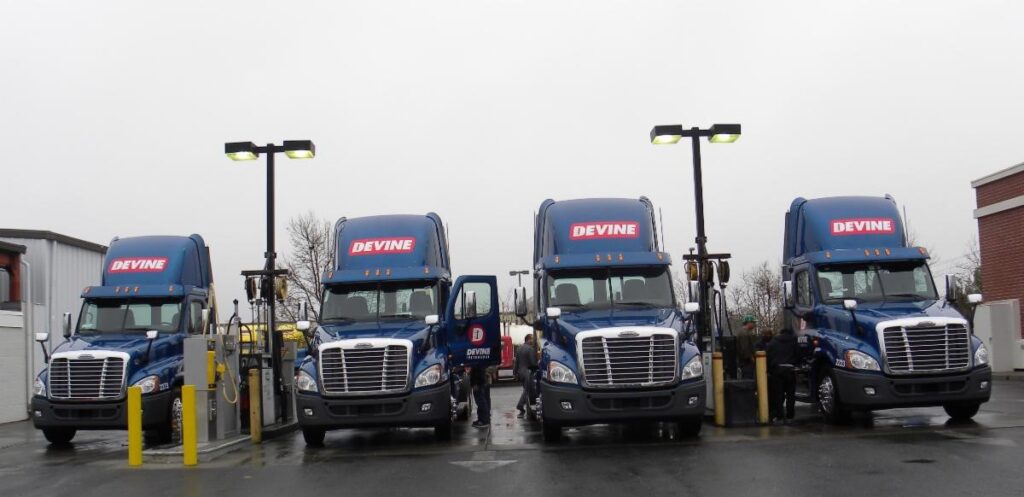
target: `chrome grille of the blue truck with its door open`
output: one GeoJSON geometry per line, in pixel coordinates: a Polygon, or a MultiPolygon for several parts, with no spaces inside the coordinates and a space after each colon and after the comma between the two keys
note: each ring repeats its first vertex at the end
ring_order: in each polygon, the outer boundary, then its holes
{"type": "Polygon", "coordinates": [[[390,394],[409,385],[410,346],[327,348],[321,350],[321,382],[325,394],[390,394]]]}

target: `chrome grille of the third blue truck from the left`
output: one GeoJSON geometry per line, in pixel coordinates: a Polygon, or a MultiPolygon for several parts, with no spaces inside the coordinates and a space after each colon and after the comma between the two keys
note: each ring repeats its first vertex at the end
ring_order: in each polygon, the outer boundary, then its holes
{"type": "Polygon", "coordinates": [[[655,386],[676,379],[676,335],[613,333],[580,342],[587,386],[655,386]]]}

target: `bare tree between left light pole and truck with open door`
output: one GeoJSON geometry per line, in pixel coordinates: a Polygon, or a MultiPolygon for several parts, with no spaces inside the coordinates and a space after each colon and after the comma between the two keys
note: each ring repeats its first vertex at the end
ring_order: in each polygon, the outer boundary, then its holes
{"type": "Polygon", "coordinates": [[[319,321],[324,272],[331,266],[331,222],[312,211],[288,220],[288,252],[284,267],[288,275],[288,299],[281,306],[282,318],[296,320],[299,302],[309,302],[309,314],[319,321]]]}

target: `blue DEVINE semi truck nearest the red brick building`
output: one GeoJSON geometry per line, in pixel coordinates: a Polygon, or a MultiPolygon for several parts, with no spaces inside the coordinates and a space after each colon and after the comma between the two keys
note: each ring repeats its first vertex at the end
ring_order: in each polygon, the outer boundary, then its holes
{"type": "Polygon", "coordinates": [[[793,201],[784,319],[805,355],[798,398],[817,404],[827,421],[923,406],[970,419],[988,401],[988,351],[951,305],[955,280],[946,279],[940,298],[928,259],[908,246],[890,196],[793,201]]]}

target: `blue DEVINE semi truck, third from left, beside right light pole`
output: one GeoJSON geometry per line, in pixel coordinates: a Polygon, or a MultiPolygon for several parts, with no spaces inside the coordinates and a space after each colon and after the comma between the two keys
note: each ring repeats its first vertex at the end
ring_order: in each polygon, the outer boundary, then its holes
{"type": "MultiPolygon", "coordinates": [[[[546,200],[534,235],[541,333],[537,415],[563,426],[663,420],[696,436],[705,412],[700,351],[673,290],[646,198],[546,200]]],[[[525,290],[515,292],[525,316],[525,290]]]]}

